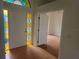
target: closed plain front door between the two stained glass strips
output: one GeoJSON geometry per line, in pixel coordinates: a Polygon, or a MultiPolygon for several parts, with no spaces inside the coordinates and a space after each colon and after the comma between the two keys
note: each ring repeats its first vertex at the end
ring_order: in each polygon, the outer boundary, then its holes
{"type": "Polygon", "coordinates": [[[8,13],[9,39],[6,40],[6,44],[9,45],[7,45],[7,49],[26,45],[26,7],[9,3],[4,3],[3,7],[3,10],[7,11],[8,13]]]}

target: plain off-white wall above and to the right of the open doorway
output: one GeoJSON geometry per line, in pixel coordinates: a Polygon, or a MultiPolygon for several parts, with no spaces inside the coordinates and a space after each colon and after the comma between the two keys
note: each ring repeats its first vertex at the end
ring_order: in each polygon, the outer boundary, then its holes
{"type": "Polygon", "coordinates": [[[59,59],[79,59],[79,0],[58,0],[39,9],[40,12],[64,9],[59,59]]]}

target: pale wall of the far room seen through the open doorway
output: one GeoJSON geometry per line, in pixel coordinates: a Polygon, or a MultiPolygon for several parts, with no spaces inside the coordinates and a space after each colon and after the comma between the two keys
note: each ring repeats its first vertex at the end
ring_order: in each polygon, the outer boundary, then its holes
{"type": "Polygon", "coordinates": [[[47,13],[49,19],[48,34],[61,36],[63,10],[52,11],[47,13]]]}

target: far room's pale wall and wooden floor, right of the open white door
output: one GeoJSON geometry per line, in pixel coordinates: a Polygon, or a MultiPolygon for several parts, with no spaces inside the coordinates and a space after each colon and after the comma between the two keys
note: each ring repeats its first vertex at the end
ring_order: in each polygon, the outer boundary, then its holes
{"type": "MultiPolygon", "coordinates": [[[[59,46],[61,39],[61,30],[62,30],[62,19],[63,19],[63,10],[56,10],[46,13],[48,15],[48,36],[47,44],[48,49],[51,54],[59,54],[59,46]],[[51,51],[54,50],[55,52],[51,51]]],[[[56,55],[57,56],[57,55],[56,55]]]]}

